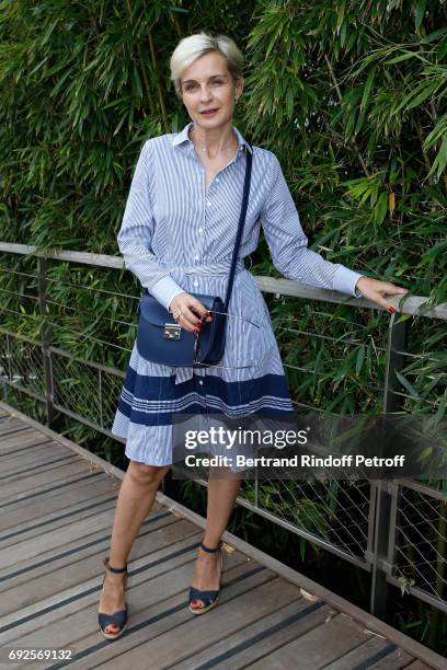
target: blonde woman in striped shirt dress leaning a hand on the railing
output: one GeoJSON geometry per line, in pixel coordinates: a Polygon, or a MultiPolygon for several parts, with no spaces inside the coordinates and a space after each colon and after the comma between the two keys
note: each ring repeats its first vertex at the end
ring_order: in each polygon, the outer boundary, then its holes
{"type": "MultiPolygon", "coordinates": [[[[355,273],[307,249],[307,238],[275,154],[251,148],[232,126],[243,91],[243,58],[225,36],[200,33],[182,39],[171,77],[191,123],[176,134],[149,139],[140,153],[117,236],[125,265],[179,324],[198,332],[204,305],[192,293],[225,297],[239,220],[245,153],[252,181],[240,247],[256,249],[263,227],[272,258],[289,279],[365,296],[392,313],[387,293],[405,293],[388,281],[355,273]]],[[[126,625],[127,558],[157,488],[172,464],[170,412],[199,414],[211,407],[230,416],[250,409],[289,412],[279,351],[262,293],[241,261],[237,267],[220,367],[171,368],[144,360],[134,348],[112,431],[127,438],[130,460],[121,486],[100,627],[118,637],[126,625]]],[[[207,316],[210,320],[211,316],[207,316]]],[[[237,474],[210,469],[207,520],[190,591],[190,610],[216,604],[222,568],[221,535],[240,486],[237,474]],[[220,558],[220,561],[219,561],[220,558]]]]}

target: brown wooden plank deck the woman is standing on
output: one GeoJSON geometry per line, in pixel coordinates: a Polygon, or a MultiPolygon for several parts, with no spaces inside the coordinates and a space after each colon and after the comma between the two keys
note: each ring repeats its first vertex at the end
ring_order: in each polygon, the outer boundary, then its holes
{"type": "Polygon", "coordinates": [[[102,558],[123,473],[0,403],[1,668],[14,648],[71,649],[69,667],[444,668],[445,659],[226,533],[224,588],[202,615],[186,607],[204,519],[159,493],[129,562],[129,623],[98,629],[102,558]],[[310,600],[300,587],[313,593],[310,600]]]}

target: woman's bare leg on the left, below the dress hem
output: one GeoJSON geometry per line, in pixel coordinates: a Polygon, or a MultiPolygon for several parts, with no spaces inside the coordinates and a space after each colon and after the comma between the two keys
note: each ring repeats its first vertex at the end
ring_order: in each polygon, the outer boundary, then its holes
{"type": "MultiPolygon", "coordinates": [[[[148,516],[157,495],[158,486],[170,465],[145,465],[130,461],[119,488],[112,529],[108,563],[112,567],[124,567],[131,545],[148,516]]],[[[113,614],[124,609],[123,574],[105,571],[99,612],[113,614]]],[[[118,626],[111,624],[106,633],[116,633],[118,626]]]]}

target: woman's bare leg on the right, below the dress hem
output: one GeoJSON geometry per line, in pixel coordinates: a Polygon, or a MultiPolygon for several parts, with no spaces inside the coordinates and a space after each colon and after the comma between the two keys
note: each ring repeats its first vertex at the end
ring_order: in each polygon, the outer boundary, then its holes
{"type": "MultiPolygon", "coordinates": [[[[206,546],[215,548],[219,545],[230,520],[240,485],[241,476],[232,473],[230,469],[209,469],[206,529],[203,540],[206,546]],[[219,473],[221,474],[222,471],[226,473],[225,477],[219,477],[219,473]]],[[[220,552],[211,554],[205,552],[202,547],[198,548],[192,581],[193,587],[202,591],[219,588],[219,558],[220,552]]],[[[193,608],[199,608],[204,604],[202,600],[197,599],[192,602],[193,608]]]]}

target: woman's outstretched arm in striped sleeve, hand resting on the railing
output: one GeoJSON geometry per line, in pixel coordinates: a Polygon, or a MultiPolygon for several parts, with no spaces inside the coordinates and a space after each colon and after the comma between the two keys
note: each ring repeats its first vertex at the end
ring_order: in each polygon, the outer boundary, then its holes
{"type": "Polygon", "coordinates": [[[272,154],[270,192],[261,212],[261,224],[275,267],[287,279],[340,291],[359,298],[365,296],[386,309],[394,308],[386,293],[406,293],[408,289],[389,281],[371,279],[341,263],[331,263],[308,249],[297,208],[276,155],[272,154]]]}

